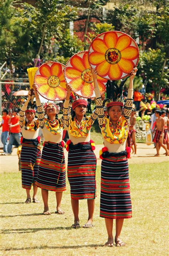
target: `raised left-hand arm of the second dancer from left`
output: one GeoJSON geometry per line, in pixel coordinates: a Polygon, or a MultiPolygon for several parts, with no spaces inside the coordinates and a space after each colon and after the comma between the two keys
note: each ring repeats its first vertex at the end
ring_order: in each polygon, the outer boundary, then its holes
{"type": "Polygon", "coordinates": [[[43,107],[39,98],[39,93],[37,92],[37,86],[34,84],[33,86],[35,98],[36,98],[36,106],[37,106],[37,119],[39,121],[39,126],[43,128],[44,126],[44,116],[45,113],[43,111],[43,107]]]}

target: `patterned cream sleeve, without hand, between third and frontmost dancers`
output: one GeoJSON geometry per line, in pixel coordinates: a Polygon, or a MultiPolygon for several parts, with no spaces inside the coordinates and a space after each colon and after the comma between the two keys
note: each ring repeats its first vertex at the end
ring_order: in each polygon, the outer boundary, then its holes
{"type": "Polygon", "coordinates": [[[103,118],[104,118],[104,110],[103,110],[102,98],[100,97],[99,88],[95,88],[94,92],[96,94],[96,109],[91,114],[91,125],[94,123],[94,121],[98,117],[99,127],[102,127],[103,118]]]}

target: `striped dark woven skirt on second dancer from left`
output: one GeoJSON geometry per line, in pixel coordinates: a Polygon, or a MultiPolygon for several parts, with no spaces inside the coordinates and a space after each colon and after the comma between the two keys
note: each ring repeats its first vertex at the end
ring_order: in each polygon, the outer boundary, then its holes
{"type": "Polygon", "coordinates": [[[36,186],[56,192],[66,190],[65,156],[60,143],[44,143],[36,186]]]}

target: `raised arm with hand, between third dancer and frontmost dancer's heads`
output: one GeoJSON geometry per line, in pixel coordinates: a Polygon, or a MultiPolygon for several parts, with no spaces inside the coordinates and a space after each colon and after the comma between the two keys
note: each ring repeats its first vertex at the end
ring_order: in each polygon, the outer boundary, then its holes
{"type": "Polygon", "coordinates": [[[91,73],[93,76],[94,92],[96,94],[96,109],[91,114],[91,125],[94,123],[94,121],[98,117],[99,126],[102,127],[103,117],[104,117],[104,109],[103,109],[102,98],[101,98],[98,83],[97,83],[97,71],[92,69],[91,73]]]}

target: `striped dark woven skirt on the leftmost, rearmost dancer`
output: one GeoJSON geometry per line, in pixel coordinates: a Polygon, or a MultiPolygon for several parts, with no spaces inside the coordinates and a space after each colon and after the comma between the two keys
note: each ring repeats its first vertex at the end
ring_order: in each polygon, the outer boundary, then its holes
{"type": "Polygon", "coordinates": [[[21,174],[22,188],[31,189],[35,184],[41,160],[41,147],[33,142],[22,143],[21,149],[21,174]]]}

